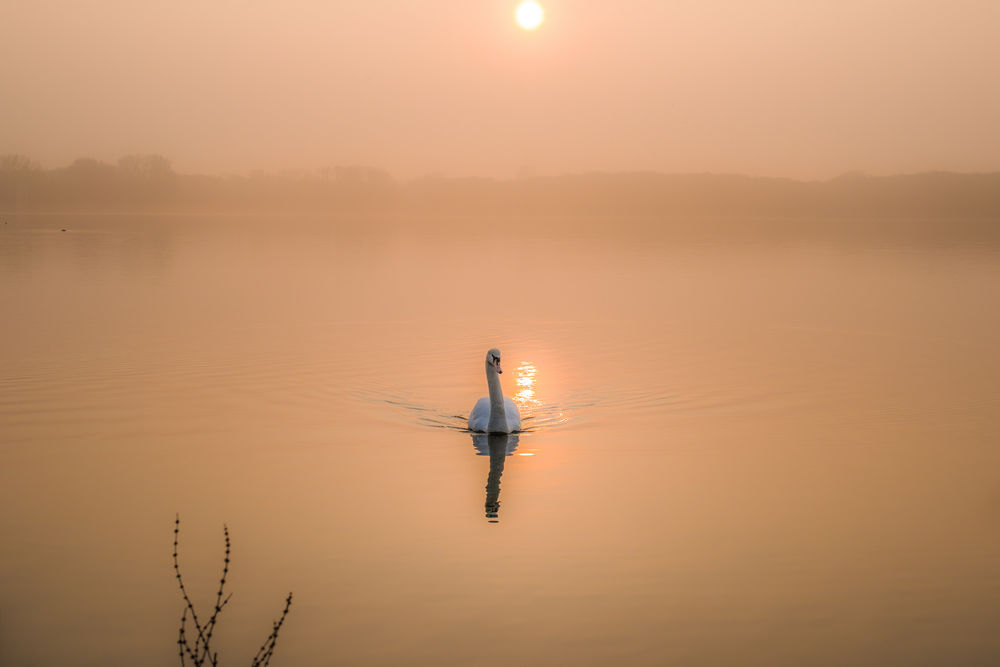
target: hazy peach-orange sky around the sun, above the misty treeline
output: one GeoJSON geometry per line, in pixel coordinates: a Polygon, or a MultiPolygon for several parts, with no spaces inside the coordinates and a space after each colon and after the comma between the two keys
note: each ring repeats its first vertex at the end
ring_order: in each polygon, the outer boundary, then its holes
{"type": "Polygon", "coordinates": [[[1000,0],[0,0],[0,153],[400,177],[1000,169],[1000,0]]]}

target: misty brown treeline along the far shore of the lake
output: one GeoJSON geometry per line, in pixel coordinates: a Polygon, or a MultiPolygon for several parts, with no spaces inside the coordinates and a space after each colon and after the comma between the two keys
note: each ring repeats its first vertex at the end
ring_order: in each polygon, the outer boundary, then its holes
{"type": "Polygon", "coordinates": [[[25,156],[4,155],[0,210],[996,218],[1000,172],[850,173],[828,181],[636,172],[400,182],[364,166],[205,176],[179,174],[160,155],[130,155],[113,165],[81,158],[55,169],[43,169],[25,156]]]}

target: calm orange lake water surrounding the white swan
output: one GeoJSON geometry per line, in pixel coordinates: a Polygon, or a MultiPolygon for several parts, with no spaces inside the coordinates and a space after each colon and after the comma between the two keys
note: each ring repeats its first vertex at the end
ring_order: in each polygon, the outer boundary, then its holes
{"type": "Polygon", "coordinates": [[[993,244],[5,219],[3,665],[1000,662],[993,244]]]}

